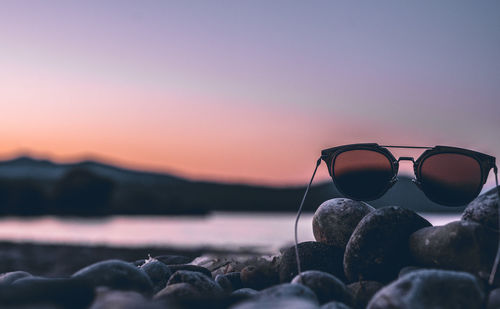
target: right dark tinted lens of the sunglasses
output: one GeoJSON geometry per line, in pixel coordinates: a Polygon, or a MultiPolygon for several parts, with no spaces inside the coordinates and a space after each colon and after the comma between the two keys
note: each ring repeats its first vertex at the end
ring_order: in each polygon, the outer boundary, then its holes
{"type": "Polygon", "coordinates": [[[440,153],[425,159],[419,180],[431,200],[449,206],[467,204],[482,187],[479,162],[456,153],[440,153]]]}

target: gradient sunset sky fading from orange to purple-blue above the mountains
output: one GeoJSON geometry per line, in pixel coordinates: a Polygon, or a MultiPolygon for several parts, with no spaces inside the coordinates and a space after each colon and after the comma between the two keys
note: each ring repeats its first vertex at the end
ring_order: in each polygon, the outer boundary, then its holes
{"type": "Polygon", "coordinates": [[[2,1],[0,116],[1,158],[197,179],[304,184],[356,142],[500,157],[500,2],[2,1]]]}

